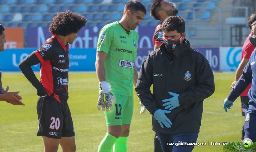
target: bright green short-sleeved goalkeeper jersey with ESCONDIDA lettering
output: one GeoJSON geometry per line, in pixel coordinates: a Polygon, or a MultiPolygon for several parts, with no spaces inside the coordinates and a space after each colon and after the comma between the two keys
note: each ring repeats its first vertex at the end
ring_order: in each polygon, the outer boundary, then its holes
{"type": "Polygon", "coordinates": [[[106,82],[111,84],[111,93],[133,95],[133,74],[139,35],[125,29],[116,21],[105,25],[99,34],[97,51],[107,53],[104,62],[106,82]]]}

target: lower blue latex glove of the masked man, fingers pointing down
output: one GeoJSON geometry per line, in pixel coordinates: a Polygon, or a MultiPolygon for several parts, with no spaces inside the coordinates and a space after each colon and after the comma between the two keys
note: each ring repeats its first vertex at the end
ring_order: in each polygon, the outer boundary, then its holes
{"type": "Polygon", "coordinates": [[[165,114],[169,114],[171,111],[168,110],[162,110],[162,109],[158,109],[155,111],[154,113],[154,117],[156,118],[156,120],[158,121],[158,123],[160,124],[160,126],[162,128],[164,128],[163,124],[165,125],[165,127],[167,128],[171,128],[172,122],[170,121],[170,119],[165,115],[165,114]]]}

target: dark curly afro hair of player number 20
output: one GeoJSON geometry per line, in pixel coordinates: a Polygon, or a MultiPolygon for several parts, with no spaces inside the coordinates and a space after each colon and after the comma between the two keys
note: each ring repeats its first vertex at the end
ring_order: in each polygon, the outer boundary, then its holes
{"type": "Polygon", "coordinates": [[[49,31],[56,35],[67,36],[77,33],[85,26],[87,19],[70,10],[59,12],[52,20],[49,31]]]}

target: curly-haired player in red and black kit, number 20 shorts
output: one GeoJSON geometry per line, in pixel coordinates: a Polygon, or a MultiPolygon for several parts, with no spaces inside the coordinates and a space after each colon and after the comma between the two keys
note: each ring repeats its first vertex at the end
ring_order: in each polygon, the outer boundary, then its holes
{"type": "Polygon", "coordinates": [[[37,136],[42,136],[44,151],[76,151],[73,120],[67,104],[69,46],[85,26],[85,17],[69,10],[59,12],[49,27],[52,37],[21,61],[19,67],[37,89],[37,136]],[[40,63],[40,81],[31,66],[40,63]]]}

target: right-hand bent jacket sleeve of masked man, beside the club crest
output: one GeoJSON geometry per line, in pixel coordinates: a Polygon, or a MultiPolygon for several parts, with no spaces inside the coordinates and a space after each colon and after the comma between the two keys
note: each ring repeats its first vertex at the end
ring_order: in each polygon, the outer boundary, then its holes
{"type": "Polygon", "coordinates": [[[197,86],[190,87],[179,95],[180,105],[186,109],[195,102],[202,101],[211,96],[215,91],[214,76],[207,59],[198,54],[195,59],[195,77],[197,86]]]}

